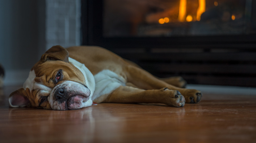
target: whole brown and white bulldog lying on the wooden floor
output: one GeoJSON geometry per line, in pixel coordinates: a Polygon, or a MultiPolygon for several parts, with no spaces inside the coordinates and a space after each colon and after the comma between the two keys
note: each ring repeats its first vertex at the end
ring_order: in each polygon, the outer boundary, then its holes
{"type": "Polygon", "coordinates": [[[168,84],[175,81],[184,84],[172,78],[160,80],[101,47],[53,46],[32,67],[23,88],[10,94],[9,105],[73,110],[93,102],[175,107],[200,102],[201,91],[168,84]]]}

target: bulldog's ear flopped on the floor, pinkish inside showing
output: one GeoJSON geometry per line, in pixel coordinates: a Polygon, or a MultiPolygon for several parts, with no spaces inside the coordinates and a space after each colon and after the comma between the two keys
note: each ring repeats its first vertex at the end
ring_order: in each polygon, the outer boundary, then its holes
{"type": "Polygon", "coordinates": [[[29,105],[29,99],[25,96],[26,91],[20,88],[9,95],[10,107],[25,107],[29,105]]]}

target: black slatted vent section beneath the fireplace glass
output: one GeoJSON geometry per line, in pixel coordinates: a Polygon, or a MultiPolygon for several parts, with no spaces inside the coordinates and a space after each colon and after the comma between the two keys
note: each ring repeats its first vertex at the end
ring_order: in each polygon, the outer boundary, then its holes
{"type": "Polygon", "coordinates": [[[256,51],[167,48],[125,51],[114,50],[159,77],[179,75],[189,84],[256,87],[256,51]]]}

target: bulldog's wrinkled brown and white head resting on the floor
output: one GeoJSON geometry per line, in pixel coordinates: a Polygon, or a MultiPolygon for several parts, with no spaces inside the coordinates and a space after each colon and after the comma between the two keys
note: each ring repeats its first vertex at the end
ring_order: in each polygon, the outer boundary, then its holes
{"type": "Polygon", "coordinates": [[[69,62],[68,51],[53,46],[32,67],[23,88],[9,96],[11,107],[72,110],[92,105],[84,74],[69,62]]]}

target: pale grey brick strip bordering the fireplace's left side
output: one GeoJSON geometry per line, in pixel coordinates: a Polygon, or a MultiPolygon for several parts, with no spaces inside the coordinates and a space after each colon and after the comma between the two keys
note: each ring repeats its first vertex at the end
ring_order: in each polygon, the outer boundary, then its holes
{"type": "Polygon", "coordinates": [[[80,0],[46,0],[46,50],[81,44],[80,0]]]}

